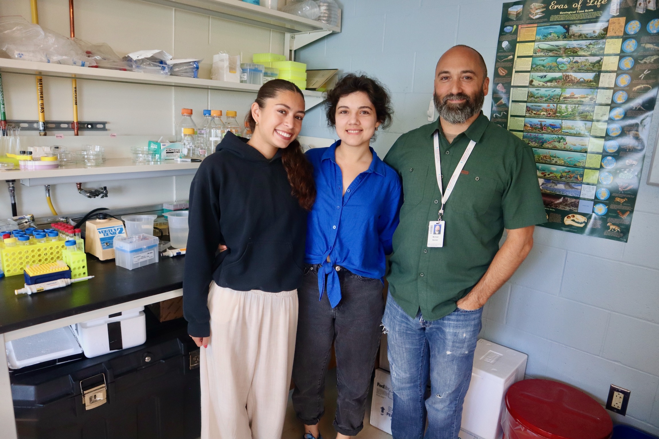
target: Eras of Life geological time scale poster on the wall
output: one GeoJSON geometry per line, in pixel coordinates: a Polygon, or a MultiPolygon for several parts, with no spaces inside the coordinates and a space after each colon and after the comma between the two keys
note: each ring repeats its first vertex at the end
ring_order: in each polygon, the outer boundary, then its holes
{"type": "Polygon", "coordinates": [[[627,242],[659,86],[656,1],[503,4],[491,120],[533,148],[542,226],[627,242]]]}

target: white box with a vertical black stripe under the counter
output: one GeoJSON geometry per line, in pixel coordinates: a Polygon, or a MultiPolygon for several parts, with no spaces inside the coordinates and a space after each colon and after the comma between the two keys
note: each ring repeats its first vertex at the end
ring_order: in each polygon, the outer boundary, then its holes
{"type": "Polygon", "coordinates": [[[146,342],[144,307],[72,324],[71,328],[88,358],[146,342]]]}

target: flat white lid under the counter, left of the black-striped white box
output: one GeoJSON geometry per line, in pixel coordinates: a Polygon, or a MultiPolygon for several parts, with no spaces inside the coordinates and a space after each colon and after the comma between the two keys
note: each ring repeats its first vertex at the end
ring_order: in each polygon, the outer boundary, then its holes
{"type": "Polygon", "coordinates": [[[11,369],[20,369],[82,352],[69,326],[11,340],[5,343],[5,347],[11,369]]]}

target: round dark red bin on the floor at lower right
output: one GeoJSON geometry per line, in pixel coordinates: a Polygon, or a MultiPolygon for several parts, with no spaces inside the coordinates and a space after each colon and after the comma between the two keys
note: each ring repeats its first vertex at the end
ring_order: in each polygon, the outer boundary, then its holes
{"type": "Polygon", "coordinates": [[[522,380],[508,389],[505,439],[608,439],[611,417],[587,394],[560,382],[522,380]]]}

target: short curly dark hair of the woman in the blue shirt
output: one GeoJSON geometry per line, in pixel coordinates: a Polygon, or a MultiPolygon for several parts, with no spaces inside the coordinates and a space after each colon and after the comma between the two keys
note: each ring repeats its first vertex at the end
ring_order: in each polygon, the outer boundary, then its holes
{"type": "Polygon", "coordinates": [[[375,114],[382,129],[389,128],[393,120],[393,108],[391,107],[391,97],[389,91],[382,82],[369,78],[364,74],[348,73],[339,79],[336,86],[325,93],[325,111],[328,120],[328,126],[336,124],[336,107],[339,105],[339,99],[357,91],[363,91],[370,99],[375,114]]]}

